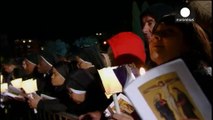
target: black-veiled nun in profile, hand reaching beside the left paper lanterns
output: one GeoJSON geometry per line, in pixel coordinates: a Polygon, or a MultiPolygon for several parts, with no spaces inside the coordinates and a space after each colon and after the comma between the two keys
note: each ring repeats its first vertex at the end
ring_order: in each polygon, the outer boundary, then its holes
{"type": "Polygon", "coordinates": [[[69,82],[69,75],[76,71],[76,62],[60,61],[53,65],[51,84],[54,87],[52,96],[54,99],[46,99],[37,94],[33,94],[33,98],[29,98],[29,105],[31,108],[36,108],[38,112],[65,112],[68,107],[74,107],[74,102],[70,101],[67,94],[67,84],[69,82]],[[72,104],[73,103],[73,104],[72,104]],[[71,105],[70,105],[71,104],[71,105]]]}

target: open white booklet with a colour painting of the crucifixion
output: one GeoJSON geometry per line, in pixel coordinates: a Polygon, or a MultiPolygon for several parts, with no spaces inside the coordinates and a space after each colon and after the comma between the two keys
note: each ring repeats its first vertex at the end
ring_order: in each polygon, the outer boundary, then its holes
{"type": "Polygon", "coordinates": [[[183,60],[147,71],[124,88],[143,120],[211,120],[212,107],[183,60]]]}

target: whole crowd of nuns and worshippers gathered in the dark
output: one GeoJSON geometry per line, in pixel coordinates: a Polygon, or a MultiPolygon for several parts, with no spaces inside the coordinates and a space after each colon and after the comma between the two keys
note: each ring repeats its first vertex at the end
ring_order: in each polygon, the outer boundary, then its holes
{"type": "MultiPolygon", "coordinates": [[[[93,42],[76,41],[71,49],[72,57],[69,59],[66,58],[67,52],[59,54],[61,52],[48,49],[29,53],[20,60],[5,58],[1,61],[2,83],[11,84],[11,80],[16,78],[33,78],[37,80],[38,90],[32,97],[28,97],[25,91],[22,91],[23,99],[4,97],[1,118],[42,120],[42,113],[48,111],[67,112],[78,116],[80,120],[140,119],[136,111],[134,115],[114,113],[110,118],[104,115],[104,110],[113,100],[106,97],[97,70],[119,66],[115,73],[121,84],[125,85],[127,79],[132,79],[128,76],[129,70],[136,78],[141,75],[141,67],[148,71],[175,59],[182,59],[186,63],[212,104],[210,37],[196,21],[176,22],[177,14],[166,4],[150,6],[140,16],[144,40],[131,31],[121,31],[107,39],[109,47],[104,54],[93,42]],[[41,94],[55,99],[43,99],[41,94]],[[38,113],[35,114],[33,109],[38,113]]],[[[174,90],[179,92],[177,88],[174,90]]],[[[156,100],[162,100],[160,93],[156,95],[156,100]]],[[[180,100],[175,101],[178,104],[180,100]]],[[[156,106],[159,106],[157,104],[161,103],[156,102],[156,106]]],[[[176,119],[174,115],[170,117],[172,120],[176,119]]],[[[167,117],[165,119],[169,120],[167,117]]],[[[184,119],[199,118],[186,114],[184,119]]]]}

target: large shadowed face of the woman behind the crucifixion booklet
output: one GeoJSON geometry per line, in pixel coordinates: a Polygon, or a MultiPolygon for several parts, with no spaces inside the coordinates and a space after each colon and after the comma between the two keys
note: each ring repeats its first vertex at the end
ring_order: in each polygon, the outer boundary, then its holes
{"type": "Polygon", "coordinates": [[[159,24],[149,41],[151,60],[157,64],[180,57],[187,51],[183,33],[175,26],[159,24]]]}

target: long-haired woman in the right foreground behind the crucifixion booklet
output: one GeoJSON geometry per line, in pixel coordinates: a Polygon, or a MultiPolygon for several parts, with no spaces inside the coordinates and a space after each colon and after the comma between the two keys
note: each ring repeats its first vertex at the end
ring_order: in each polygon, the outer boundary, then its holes
{"type": "Polygon", "coordinates": [[[150,57],[158,65],[181,58],[196,82],[212,103],[211,44],[204,30],[196,22],[175,22],[176,14],[165,15],[153,29],[149,41],[150,57]]]}

